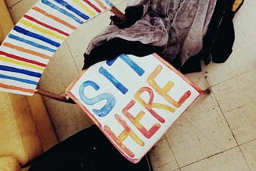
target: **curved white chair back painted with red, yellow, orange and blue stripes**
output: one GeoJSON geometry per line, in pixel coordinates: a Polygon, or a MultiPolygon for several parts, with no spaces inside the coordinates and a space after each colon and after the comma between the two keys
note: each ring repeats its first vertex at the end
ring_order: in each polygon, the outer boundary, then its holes
{"type": "Polygon", "coordinates": [[[40,0],[0,46],[0,91],[32,95],[58,47],[90,18],[114,6],[108,0],[40,0]]]}

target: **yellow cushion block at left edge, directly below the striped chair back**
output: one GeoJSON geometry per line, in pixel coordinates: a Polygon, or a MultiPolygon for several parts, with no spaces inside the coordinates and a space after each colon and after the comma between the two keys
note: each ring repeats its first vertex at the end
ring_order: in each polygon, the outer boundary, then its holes
{"type": "Polygon", "coordinates": [[[0,155],[13,156],[20,165],[42,153],[26,96],[0,92],[0,155]]]}

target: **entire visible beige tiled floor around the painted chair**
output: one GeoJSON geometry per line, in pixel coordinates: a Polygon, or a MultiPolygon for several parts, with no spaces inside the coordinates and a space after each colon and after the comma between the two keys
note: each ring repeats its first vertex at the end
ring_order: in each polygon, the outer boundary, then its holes
{"type": "MultiPolygon", "coordinates": [[[[6,0],[17,22],[33,1],[6,0]]],[[[121,10],[124,0],[112,1],[121,10]]],[[[202,95],[150,150],[156,171],[256,170],[256,1],[246,0],[234,18],[234,52],[223,64],[203,66],[186,76],[202,89],[202,95]]],[[[40,82],[42,89],[64,93],[82,68],[82,54],[102,27],[107,12],[78,28],[58,50],[40,82]]],[[[76,105],[45,98],[60,141],[92,121],[76,105]]]]}

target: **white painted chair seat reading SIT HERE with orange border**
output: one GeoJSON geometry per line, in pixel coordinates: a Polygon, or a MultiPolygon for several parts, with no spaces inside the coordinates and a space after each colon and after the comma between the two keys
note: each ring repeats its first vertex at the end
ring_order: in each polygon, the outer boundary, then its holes
{"type": "Polygon", "coordinates": [[[66,93],[136,163],[202,90],[157,54],[122,54],[90,66],[66,93]]]}

